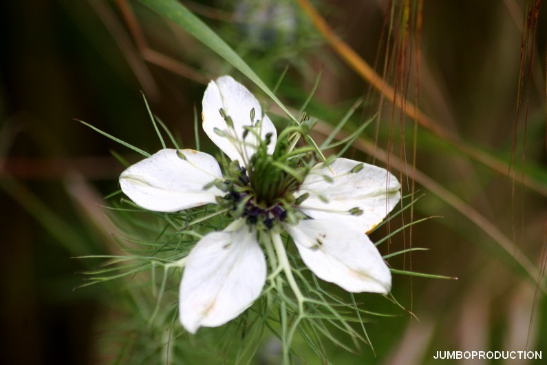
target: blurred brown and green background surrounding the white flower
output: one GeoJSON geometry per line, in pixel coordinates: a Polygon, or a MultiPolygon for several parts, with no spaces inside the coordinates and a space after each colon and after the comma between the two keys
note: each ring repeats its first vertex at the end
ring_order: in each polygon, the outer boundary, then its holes
{"type": "MultiPolygon", "coordinates": [[[[390,264],[458,280],[394,275],[394,295],[418,319],[374,302],[398,315],[367,326],[376,356],[366,346],[357,355],[333,347],[332,363],[436,364],[444,350],[528,348],[547,357],[544,2],[314,1],[421,119],[352,69],[297,1],[182,3],[270,87],[288,66],[277,94],[295,110],[322,72],[306,108],[319,118],[317,140],[363,97],[345,132],[380,114],[347,156],[389,165],[404,194],[421,197],[390,229],[434,217],[392,237],[383,253],[428,248],[390,264]]],[[[116,252],[104,197],[123,169],[114,155],[137,156],[76,119],[154,152],[142,90],[178,140],[195,147],[195,109],[209,79],[230,73],[257,88],[138,1],[1,1],[0,27],[0,361],[114,362],[101,350],[104,323],[125,314],[113,286],[74,290],[81,272],[100,264],[74,257],[116,252]]],[[[321,364],[312,355],[308,363],[321,364]]]]}

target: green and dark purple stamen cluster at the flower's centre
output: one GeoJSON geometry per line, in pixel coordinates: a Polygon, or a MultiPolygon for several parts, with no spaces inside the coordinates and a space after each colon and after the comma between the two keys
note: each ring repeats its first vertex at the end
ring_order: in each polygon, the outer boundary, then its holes
{"type": "MultiPolygon", "coordinates": [[[[228,127],[233,127],[231,118],[219,111],[228,127]]],[[[255,110],[250,111],[251,124],[245,128],[243,140],[251,134],[258,140],[257,151],[250,156],[246,167],[240,167],[238,161],[224,163],[224,180],[214,183],[226,192],[217,198],[219,205],[230,207],[234,218],[246,218],[247,222],[258,229],[271,229],[277,222],[296,223],[305,218],[297,207],[308,198],[304,194],[294,198],[294,193],[303,183],[313,164],[312,153],[307,147],[292,149],[292,141],[303,130],[299,127],[288,128],[279,136],[275,152],[268,154],[272,136],[261,138],[260,123],[255,122],[255,110]],[[288,134],[291,136],[288,136],[288,134]],[[311,161],[310,161],[311,160],[311,161]]]]}

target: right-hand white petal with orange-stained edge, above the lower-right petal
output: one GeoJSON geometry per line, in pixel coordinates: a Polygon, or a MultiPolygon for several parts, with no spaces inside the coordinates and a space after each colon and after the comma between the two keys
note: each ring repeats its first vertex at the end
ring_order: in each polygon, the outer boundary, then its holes
{"type": "Polygon", "coordinates": [[[386,169],[350,160],[336,158],[328,167],[316,165],[300,187],[301,193],[310,193],[301,211],[316,219],[337,219],[339,213],[352,208],[363,210],[360,216],[347,215],[362,231],[367,232],[380,223],[392,211],[400,199],[400,184],[386,169]],[[358,172],[351,172],[363,165],[358,172]],[[324,176],[332,178],[329,183],[324,176]],[[319,195],[327,198],[324,202],[319,195]]]}

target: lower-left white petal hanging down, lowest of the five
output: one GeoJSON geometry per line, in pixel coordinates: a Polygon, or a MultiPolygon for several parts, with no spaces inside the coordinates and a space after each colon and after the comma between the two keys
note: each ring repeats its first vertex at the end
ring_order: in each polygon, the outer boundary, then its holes
{"type": "Polygon", "coordinates": [[[195,333],[233,320],[259,297],[266,282],[266,259],[257,233],[209,233],[192,249],[180,284],[180,322],[195,333]]]}

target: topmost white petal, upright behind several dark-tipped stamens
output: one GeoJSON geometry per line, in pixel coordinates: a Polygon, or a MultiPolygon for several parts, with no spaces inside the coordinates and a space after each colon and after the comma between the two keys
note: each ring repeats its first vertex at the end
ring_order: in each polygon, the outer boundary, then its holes
{"type": "Polygon", "coordinates": [[[256,152],[258,141],[252,133],[248,133],[245,140],[243,140],[244,126],[251,125],[250,110],[253,108],[255,108],[254,123],[257,122],[257,119],[261,119],[261,138],[264,139],[268,133],[272,134],[272,140],[268,145],[268,153],[273,153],[277,140],[275,127],[266,114],[262,116],[260,103],[244,85],[230,76],[219,77],[207,86],[202,106],[203,130],[231,160],[239,160],[239,165],[246,165],[250,157],[256,152]],[[228,127],[226,121],[220,115],[219,110],[221,108],[232,119],[233,129],[228,127]],[[221,130],[230,138],[219,136],[215,129],[221,130]]]}

